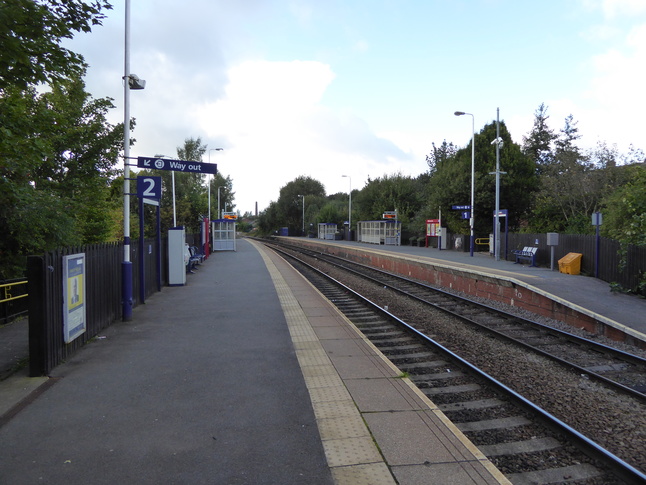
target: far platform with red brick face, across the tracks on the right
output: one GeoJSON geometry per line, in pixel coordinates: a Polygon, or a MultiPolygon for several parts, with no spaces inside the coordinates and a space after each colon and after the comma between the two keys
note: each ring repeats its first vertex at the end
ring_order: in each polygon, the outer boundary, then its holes
{"type": "Polygon", "coordinates": [[[348,250],[354,251],[378,267],[390,264],[402,269],[402,261],[411,263],[413,271],[421,268],[424,274],[436,273],[437,282],[444,286],[519,307],[526,304],[527,309],[545,316],[560,313],[563,318],[559,319],[566,323],[646,348],[646,299],[613,293],[608,283],[590,276],[563,274],[558,269],[552,271],[503,259],[496,261],[488,252],[470,256],[468,252],[416,246],[289,239],[298,244],[337,248],[346,255],[348,250]],[[383,259],[384,255],[389,260],[383,259]],[[459,275],[465,277],[458,280],[459,275]],[[486,288],[488,283],[492,288],[486,288]]]}

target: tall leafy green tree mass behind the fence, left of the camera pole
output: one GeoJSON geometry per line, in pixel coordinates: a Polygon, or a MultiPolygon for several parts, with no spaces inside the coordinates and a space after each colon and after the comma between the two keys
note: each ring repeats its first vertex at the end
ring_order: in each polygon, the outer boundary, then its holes
{"type": "Polygon", "coordinates": [[[110,188],[122,144],[92,100],[82,56],[62,39],[100,25],[105,0],[5,0],[0,7],[0,278],[21,257],[111,237],[110,188]],[[38,94],[35,86],[49,84],[38,94]]]}

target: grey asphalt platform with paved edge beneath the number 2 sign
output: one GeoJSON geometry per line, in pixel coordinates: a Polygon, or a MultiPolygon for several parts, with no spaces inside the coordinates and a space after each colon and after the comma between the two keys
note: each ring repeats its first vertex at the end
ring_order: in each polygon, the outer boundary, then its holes
{"type": "Polygon", "coordinates": [[[0,402],[0,483],[509,483],[248,240],[0,402]]]}

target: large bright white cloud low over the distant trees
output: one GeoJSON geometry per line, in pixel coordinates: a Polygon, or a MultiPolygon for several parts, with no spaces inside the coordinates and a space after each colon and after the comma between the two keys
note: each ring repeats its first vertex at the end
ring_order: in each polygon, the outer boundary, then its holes
{"type": "MultiPolygon", "coordinates": [[[[234,182],[237,208],[263,210],[296,177],[319,180],[328,194],[360,188],[394,172],[408,155],[351,113],[321,104],[335,74],[314,61],[247,61],[231,68],[223,99],[196,107],[209,138],[226,139],[218,168],[234,182]]],[[[421,170],[420,170],[421,171],[421,170]]]]}

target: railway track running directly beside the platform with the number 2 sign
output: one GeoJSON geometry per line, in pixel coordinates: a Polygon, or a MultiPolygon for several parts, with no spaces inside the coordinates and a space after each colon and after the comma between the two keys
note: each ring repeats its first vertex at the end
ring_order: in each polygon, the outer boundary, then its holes
{"type": "MultiPolygon", "coordinates": [[[[373,303],[330,279],[305,258],[279,251],[406,372],[513,483],[613,484],[646,480],[638,468],[451,352],[415,325],[398,319],[382,308],[382,303],[373,303]]],[[[317,266],[321,258],[317,254],[309,256],[317,266]]],[[[375,291],[381,288],[391,292],[395,286],[375,281],[374,275],[371,278],[375,291]]],[[[412,294],[410,288],[407,293],[412,294]]],[[[415,298],[419,301],[419,295],[415,298]]],[[[437,301],[432,305],[440,308],[437,301]]],[[[446,307],[442,312],[447,312],[446,307]]],[[[620,388],[623,387],[627,386],[620,388]]]]}

